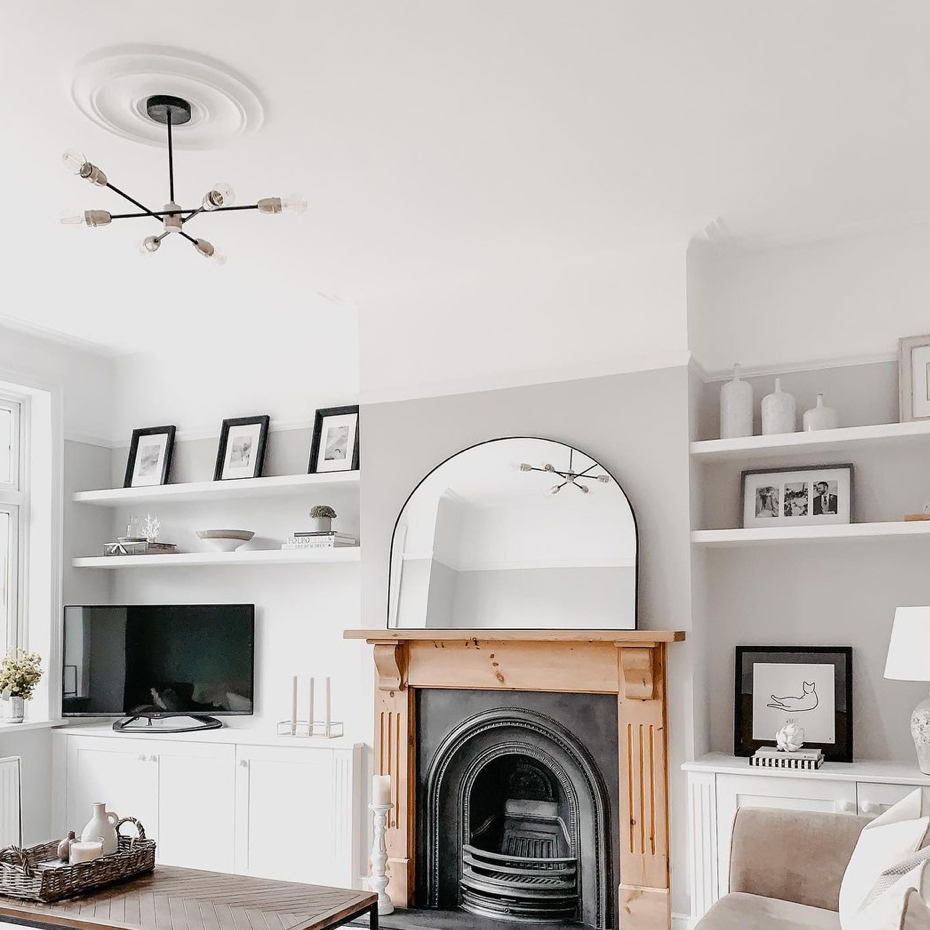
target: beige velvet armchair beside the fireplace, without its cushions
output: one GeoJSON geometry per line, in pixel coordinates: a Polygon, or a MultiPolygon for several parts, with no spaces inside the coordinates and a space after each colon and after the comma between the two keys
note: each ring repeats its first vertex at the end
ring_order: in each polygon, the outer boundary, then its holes
{"type": "Polygon", "coordinates": [[[865,817],[741,808],[730,893],[695,930],[839,930],[840,883],[865,817]]]}

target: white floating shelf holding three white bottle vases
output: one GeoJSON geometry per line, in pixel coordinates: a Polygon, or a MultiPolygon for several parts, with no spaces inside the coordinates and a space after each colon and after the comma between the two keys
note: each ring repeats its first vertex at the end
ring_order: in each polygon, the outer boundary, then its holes
{"type": "Polygon", "coordinates": [[[930,447],[930,420],[914,423],[883,423],[878,426],[846,426],[811,433],[780,433],[743,439],[709,439],[691,443],[691,455],[702,462],[725,459],[765,459],[793,453],[842,450],[844,446],[878,443],[925,442],[930,447]]]}

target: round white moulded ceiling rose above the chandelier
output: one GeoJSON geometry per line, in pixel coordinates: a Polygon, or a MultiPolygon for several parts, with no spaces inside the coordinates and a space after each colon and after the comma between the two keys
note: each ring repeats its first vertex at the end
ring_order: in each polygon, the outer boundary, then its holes
{"type": "Polygon", "coordinates": [[[152,88],[190,103],[190,120],[177,127],[179,149],[215,149],[256,133],[264,106],[241,76],[210,58],[183,49],[119,45],[85,58],[71,83],[71,98],[91,122],[123,139],[163,146],[163,127],[146,109],[152,88]]]}

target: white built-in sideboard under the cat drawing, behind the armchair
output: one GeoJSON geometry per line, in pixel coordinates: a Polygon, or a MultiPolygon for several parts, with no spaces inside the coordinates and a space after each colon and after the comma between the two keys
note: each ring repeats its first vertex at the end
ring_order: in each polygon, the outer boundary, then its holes
{"type": "Polygon", "coordinates": [[[900,762],[826,762],[815,772],[752,768],[749,759],[710,753],[688,776],[692,923],[729,890],[730,837],[741,807],[877,817],[930,775],[900,762]]]}

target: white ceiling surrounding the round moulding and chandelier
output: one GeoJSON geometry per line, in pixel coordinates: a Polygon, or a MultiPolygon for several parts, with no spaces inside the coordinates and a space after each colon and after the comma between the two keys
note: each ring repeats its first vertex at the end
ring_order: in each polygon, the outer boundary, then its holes
{"type": "MultiPolygon", "coordinates": [[[[930,216],[928,37],[922,0],[6,4],[0,312],[118,353],[221,332],[296,357],[343,339],[356,302],[380,326],[373,355],[393,351],[385,333],[454,332],[482,304],[505,365],[509,310],[554,268],[586,280],[592,262],[657,243],[683,268],[683,244],[716,218],[764,242],[930,216]],[[242,202],[302,191],[310,211],[198,218],[222,269],[178,241],[143,259],[148,221],[60,228],[64,207],[119,205],[64,171],[68,147],[166,199],[163,153],[69,100],[77,62],[124,43],[227,62],[266,102],[254,138],[179,153],[183,201],[228,180],[242,202]]],[[[624,314],[648,328],[642,311],[616,301],[618,331],[624,314]]],[[[672,323],[657,316],[633,348],[667,345],[672,323]]]]}

